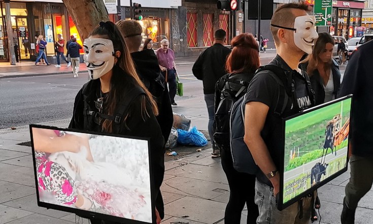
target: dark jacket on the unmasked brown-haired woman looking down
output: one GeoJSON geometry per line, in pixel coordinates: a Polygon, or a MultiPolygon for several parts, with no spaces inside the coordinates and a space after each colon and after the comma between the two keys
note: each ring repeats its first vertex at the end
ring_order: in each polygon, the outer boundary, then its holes
{"type": "MultiPolygon", "coordinates": [[[[304,70],[307,70],[308,62],[302,63],[301,66],[302,68],[304,68],[304,70]]],[[[338,66],[338,62],[335,61],[334,59],[332,59],[331,71],[333,74],[333,83],[334,83],[333,95],[334,95],[334,99],[337,99],[337,93],[341,85],[341,72],[338,66]]],[[[312,74],[309,74],[309,76],[310,76],[312,89],[315,91],[316,105],[323,104],[325,100],[325,90],[324,90],[323,80],[321,79],[320,73],[316,69],[312,72],[312,74]]]]}

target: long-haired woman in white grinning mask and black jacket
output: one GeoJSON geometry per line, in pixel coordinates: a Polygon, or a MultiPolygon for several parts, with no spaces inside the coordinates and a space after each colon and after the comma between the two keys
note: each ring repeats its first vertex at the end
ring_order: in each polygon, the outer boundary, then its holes
{"type": "MultiPolygon", "coordinates": [[[[164,174],[163,137],[155,118],[158,108],[136,73],[120,31],[110,21],[100,22],[84,40],[83,48],[91,80],[75,98],[69,127],[150,138],[154,196],[158,195],[164,174]]],[[[94,218],[91,223],[101,220],[94,218]]]]}

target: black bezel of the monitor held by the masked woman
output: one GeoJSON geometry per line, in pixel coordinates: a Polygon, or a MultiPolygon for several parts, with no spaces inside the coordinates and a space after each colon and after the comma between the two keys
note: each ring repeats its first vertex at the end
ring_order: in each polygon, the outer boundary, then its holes
{"type": "Polygon", "coordinates": [[[91,132],[91,131],[83,131],[77,129],[69,129],[64,127],[56,127],[56,126],[48,126],[48,125],[41,125],[41,124],[30,124],[30,138],[31,138],[31,151],[32,151],[32,162],[33,162],[33,172],[35,175],[35,186],[36,186],[36,195],[37,195],[37,203],[39,207],[44,207],[47,209],[55,209],[59,211],[65,211],[70,213],[75,213],[83,218],[99,218],[104,220],[116,221],[121,223],[128,223],[128,224],[149,224],[150,222],[140,221],[140,220],[133,220],[124,217],[118,217],[103,213],[97,213],[87,210],[82,210],[78,208],[72,207],[65,207],[61,205],[55,205],[51,203],[46,203],[40,201],[39,190],[38,190],[38,178],[37,178],[37,168],[36,168],[36,158],[35,158],[35,148],[33,145],[33,135],[32,135],[32,128],[38,129],[49,129],[49,130],[58,130],[58,131],[66,131],[66,132],[75,132],[75,133],[82,133],[82,134],[91,134],[91,135],[99,135],[99,136],[110,136],[110,137],[119,137],[119,138],[128,138],[128,139],[136,139],[136,140],[144,140],[148,142],[148,154],[149,154],[149,175],[150,175],[150,198],[151,198],[151,208],[152,208],[152,220],[155,222],[155,195],[154,195],[154,176],[153,176],[153,169],[152,169],[152,161],[151,161],[151,150],[150,150],[150,138],[141,138],[141,137],[133,137],[133,136],[124,136],[118,134],[111,134],[111,133],[98,133],[98,132],[91,132]]]}

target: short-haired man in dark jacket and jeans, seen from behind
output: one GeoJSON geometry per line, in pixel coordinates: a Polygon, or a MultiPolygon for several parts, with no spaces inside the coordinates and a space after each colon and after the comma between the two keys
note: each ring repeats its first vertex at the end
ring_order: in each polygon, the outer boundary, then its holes
{"type": "Polygon", "coordinates": [[[220,152],[215,147],[213,136],[215,83],[226,74],[224,65],[231,50],[223,46],[226,40],[226,33],[223,29],[216,30],[214,38],[214,45],[199,55],[194,62],[192,72],[204,84],[205,101],[209,113],[209,136],[213,145],[212,157],[219,157],[220,152]]]}

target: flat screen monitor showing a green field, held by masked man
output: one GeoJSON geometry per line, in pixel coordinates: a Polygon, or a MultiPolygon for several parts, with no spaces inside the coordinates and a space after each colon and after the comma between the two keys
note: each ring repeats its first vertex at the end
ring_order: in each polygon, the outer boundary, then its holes
{"type": "Polygon", "coordinates": [[[352,95],[284,119],[280,210],[347,171],[352,95]]]}

